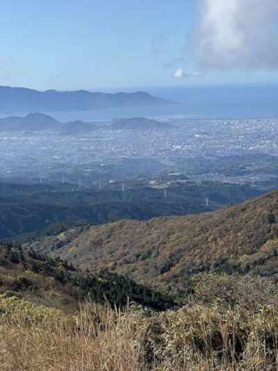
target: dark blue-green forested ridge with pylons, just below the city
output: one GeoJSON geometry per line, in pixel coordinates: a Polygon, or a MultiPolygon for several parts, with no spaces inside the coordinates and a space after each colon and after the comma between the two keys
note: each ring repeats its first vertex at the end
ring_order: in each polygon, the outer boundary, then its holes
{"type": "MultiPolygon", "coordinates": [[[[196,214],[215,210],[258,196],[260,191],[236,184],[206,182],[174,184],[164,189],[147,187],[145,182],[122,183],[108,189],[81,189],[72,184],[0,184],[0,239],[36,238],[44,230],[55,233],[57,223],[101,224],[120,219],[147,220],[156,216],[196,214]],[[129,184],[127,184],[129,186],[129,184]],[[114,187],[114,188],[113,188],[114,187]],[[119,189],[120,188],[120,189],[119,189]],[[206,205],[208,198],[208,205],[206,205]],[[35,233],[33,233],[35,232],[35,233]],[[28,235],[26,235],[28,234],[28,235]]],[[[59,227],[60,228],[60,227],[59,227]]],[[[49,232],[47,232],[49,234],[49,232]]]]}

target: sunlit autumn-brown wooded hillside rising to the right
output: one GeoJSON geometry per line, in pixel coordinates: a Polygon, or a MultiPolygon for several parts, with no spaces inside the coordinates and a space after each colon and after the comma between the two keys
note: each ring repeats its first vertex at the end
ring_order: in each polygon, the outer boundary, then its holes
{"type": "Polygon", "coordinates": [[[278,276],[278,191],[201,215],[75,228],[32,246],[174,290],[211,269],[278,276]]]}

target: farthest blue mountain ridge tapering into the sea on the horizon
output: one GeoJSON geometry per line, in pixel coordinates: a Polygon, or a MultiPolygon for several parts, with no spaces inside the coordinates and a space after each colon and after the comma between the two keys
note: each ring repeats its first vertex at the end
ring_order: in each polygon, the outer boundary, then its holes
{"type": "Polygon", "coordinates": [[[148,93],[92,93],[87,90],[38,91],[0,86],[0,112],[82,111],[129,106],[165,106],[173,102],[148,93]]]}

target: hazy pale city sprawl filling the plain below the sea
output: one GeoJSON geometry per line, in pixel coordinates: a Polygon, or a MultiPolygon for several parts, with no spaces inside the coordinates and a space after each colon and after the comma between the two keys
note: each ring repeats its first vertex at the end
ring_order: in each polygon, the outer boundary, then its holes
{"type": "Polygon", "coordinates": [[[86,134],[1,132],[0,177],[69,182],[182,173],[196,180],[275,182],[277,118],[164,119],[168,129],[112,129],[86,134]],[[231,161],[232,160],[232,161],[231,161]],[[238,166],[240,165],[240,166],[238,166]]]}

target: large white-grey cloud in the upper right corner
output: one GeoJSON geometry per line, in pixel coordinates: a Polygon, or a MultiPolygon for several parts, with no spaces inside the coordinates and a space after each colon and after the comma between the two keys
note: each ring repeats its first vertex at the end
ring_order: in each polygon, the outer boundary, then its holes
{"type": "Polygon", "coordinates": [[[278,70],[278,0],[199,0],[197,60],[208,70],[278,70]]]}

